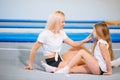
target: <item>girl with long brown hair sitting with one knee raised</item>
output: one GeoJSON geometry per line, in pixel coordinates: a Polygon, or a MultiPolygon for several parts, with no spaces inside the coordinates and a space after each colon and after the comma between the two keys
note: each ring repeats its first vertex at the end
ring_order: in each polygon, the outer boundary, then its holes
{"type": "Polygon", "coordinates": [[[95,24],[93,35],[93,55],[81,49],[64,68],[55,73],[112,74],[111,60],[114,59],[114,55],[108,26],[105,23],[95,24]],[[75,66],[81,59],[84,59],[85,64],[75,66]]]}

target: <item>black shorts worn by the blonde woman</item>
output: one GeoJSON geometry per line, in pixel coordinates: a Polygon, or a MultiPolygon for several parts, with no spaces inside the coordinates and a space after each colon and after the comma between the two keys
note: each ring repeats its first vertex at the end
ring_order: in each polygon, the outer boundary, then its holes
{"type": "Polygon", "coordinates": [[[59,55],[58,55],[58,61],[55,61],[55,57],[46,59],[46,63],[53,67],[58,67],[58,65],[61,61],[62,61],[62,59],[59,55]]]}

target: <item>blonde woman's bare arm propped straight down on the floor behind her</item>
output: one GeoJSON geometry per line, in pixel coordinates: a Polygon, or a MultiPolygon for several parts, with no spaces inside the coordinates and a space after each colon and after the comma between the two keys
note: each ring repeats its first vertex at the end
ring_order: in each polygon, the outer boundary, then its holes
{"type": "Polygon", "coordinates": [[[35,54],[36,54],[36,51],[38,50],[38,48],[42,45],[42,43],[40,42],[36,42],[33,46],[33,48],[31,49],[31,52],[30,52],[30,57],[29,57],[29,65],[26,66],[24,69],[27,69],[27,70],[31,70],[33,69],[33,63],[34,63],[34,58],[35,58],[35,54]]]}

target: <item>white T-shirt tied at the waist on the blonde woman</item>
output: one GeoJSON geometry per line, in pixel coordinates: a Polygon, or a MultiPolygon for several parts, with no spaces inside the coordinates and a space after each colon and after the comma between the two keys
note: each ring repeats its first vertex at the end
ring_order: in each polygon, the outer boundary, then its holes
{"type": "Polygon", "coordinates": [[[50,30],[44,30],[39,34],[37,41],[43,43],[43,53],[44,56],[47,56],[54,52],[60,52],[63,40],[67,37],[63,30],[59,34],[54,34],[50,30]]]}

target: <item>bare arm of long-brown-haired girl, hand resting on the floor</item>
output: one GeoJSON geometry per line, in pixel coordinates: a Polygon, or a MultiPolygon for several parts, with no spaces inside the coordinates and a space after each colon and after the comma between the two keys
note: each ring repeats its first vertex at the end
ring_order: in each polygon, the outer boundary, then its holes
{"type": "Polygon", "coordinates": [[[110,63],[111,60],[110,60],[109,51],[108,51],[107,46],[105,44],[100,43],[99,46],[100,46],[103,58],[106,61],[106,66],[107,66],[107,70],[108,70],[108,72],[106,72],[104,74],[110,75],[110,74],[112,74],[112,67],[111,67],[111,63],[110,63]]]}

